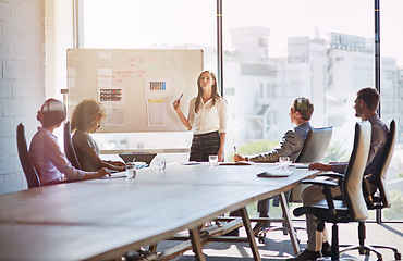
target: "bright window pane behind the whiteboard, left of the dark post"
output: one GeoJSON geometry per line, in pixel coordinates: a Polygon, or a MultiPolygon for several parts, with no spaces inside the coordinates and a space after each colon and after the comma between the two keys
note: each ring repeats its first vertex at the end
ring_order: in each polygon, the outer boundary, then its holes
{"type": "MultiPolygon", "coordinates": [[[[83,0],[84,48],[204,49],[205,67],[215,70],[216,3],[213,1],[83,0]]],[[[195,79],[195,86],[196,79],[195,79]]],[[[187,112],[184,112],[187,115],[187,112]]],[[[188,148],[192,133],[96,134],[100,148],[188,148]]],[[[187,160],[187,154],[167,154],[187,160]]]]}

